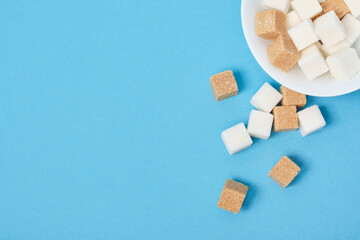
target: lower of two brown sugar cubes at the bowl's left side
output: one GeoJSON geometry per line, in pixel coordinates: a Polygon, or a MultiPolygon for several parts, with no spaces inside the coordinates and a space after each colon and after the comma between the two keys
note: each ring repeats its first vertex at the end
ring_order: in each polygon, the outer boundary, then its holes
{"type": "Polygon", "coordinates": [[[269,47],[270,63],[281,71],[288,72],[300,59],[300,52],[287,36],[279,36],[269,47]]]}

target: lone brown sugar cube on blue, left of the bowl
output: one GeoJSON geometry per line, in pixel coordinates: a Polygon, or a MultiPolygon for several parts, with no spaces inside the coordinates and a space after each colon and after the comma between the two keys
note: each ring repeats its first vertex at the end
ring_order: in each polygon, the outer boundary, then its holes
{"type": "Polygon", "coordinates": [[[235,96],[239,91],[232,71],[221,72],[210,77],[210,86],[216,101],[235,96]]]}

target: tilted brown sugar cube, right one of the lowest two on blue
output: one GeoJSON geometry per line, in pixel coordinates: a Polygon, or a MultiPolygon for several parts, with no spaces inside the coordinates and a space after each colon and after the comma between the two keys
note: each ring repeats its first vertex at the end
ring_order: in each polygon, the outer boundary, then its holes
{"type": "Polygon", "coordinates": [[[286,188],[299,172],[299,166],[288,157],[283,156],[268,175],[282,188],[286,188]]]}

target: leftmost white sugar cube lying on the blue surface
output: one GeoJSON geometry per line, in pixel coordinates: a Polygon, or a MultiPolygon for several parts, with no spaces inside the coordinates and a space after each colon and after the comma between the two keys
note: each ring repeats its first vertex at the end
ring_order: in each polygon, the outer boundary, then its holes
{"type": "Polygon", "coordinates": [[[221,138],[230,155],[250,147],[253,143],[244,123],[226,129],[221,133],[221,138]]]}

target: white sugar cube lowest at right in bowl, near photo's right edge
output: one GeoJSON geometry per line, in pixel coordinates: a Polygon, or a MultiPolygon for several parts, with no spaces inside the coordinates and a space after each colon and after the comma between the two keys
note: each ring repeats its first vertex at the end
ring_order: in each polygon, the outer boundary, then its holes
{"type": "Polygon", "coordinates": [[[353,48],[343,48],[326,58],[331,75],[340,80],[352,78],[360,72],[360,60],[353,48]]]}

